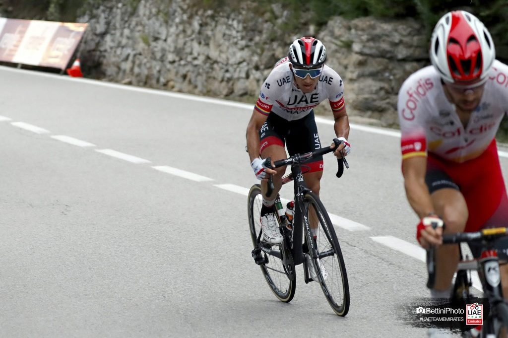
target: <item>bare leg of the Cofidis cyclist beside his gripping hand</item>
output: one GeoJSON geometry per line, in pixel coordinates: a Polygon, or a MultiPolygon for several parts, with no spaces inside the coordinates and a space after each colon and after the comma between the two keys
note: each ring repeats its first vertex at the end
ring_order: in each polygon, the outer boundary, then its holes
{"type": "MultiPolygon", "coordinates": [[[[431,194],[434,212],[444,221],[443,233],[462,232],[466,227],[468,211],[462,194],[455,189],[444,188],[431,194]]],[[[448,290],[459,262],[459,245],[446,244],[436,250],[436,291],[448,290]]]]}

